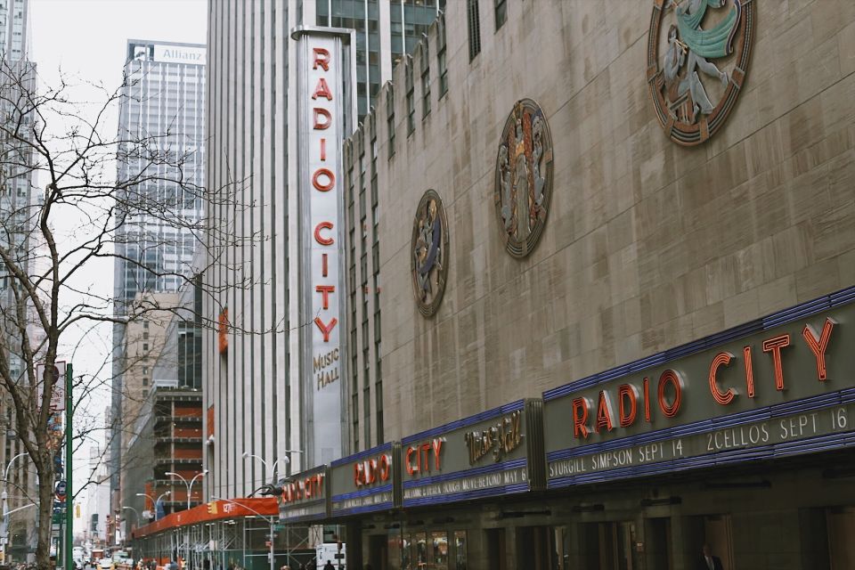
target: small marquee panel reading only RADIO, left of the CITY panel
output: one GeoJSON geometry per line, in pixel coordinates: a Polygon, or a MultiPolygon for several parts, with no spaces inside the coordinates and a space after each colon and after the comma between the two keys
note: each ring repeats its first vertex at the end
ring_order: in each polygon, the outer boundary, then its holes
{"type": "Polygon", "coordinates": [[[398,444],[383,444],[333,461],[330,466],[332,516],[355,515],[396,507],[398,444]]]}

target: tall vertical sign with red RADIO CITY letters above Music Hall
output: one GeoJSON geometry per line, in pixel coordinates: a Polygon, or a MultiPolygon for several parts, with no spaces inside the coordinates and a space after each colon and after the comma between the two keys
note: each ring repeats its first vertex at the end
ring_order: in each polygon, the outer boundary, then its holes
{"type": "Polygon", "coordinates": [[[343,137],[353,120],[349,30],[297,28],[301,392],[308,465],[344,454],[343,137]],[[348,102],[350,100],[351,102],[348,102]]]}

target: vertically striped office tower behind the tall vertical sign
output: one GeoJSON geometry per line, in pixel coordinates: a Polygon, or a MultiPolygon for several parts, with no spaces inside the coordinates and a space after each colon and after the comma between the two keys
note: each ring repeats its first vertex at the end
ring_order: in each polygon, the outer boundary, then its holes
{"type": "MultiPolygon", "coordinates": [[[[246,496],[273,476],[274,465],[281,475],[336,459],[304,453],[314,442],[305,432],[301,383],[308,384],[313,362],[301,362],[307,359],[299,354],[301,335],[310,330],[304,325],[312,319],[300,310],[297,260],[305,228],[298,210],[297,50],[291,30],[354,29],[355,89],[347,88],[355,92],[358,121],[392,76],[395,59],[419,40],[439,10],[431,0],[208,5],[207,179],[212,187],[234,183],[236,201],[245,208],[237,215],[212,208],[206,216],[208,224],[253,236],[238,244],[209,244],[217,261],[205,280],[215,292],[205,298],[204,312],[221,330],[203,340],[208,496],[246,496]],[[250,204],[255,206],[246,208],[250,204]]],[[[352,116],[347,120],[357,123],[352,116]]],[[[347,134],[340,129],[330,145],[340,148],[347,134]]],[[[346,411],[346,403],[341,409],[346,411]]],[[[382,441],[376,433],[373,438],[382,441]]]]}

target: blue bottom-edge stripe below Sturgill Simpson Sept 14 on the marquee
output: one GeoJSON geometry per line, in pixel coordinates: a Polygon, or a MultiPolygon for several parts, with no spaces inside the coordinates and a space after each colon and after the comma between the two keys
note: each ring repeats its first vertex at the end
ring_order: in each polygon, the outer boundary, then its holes
{"type": "Polygon", "coordinates": [[[814,436],[794,442],[769,444],[760,447],[730,450],[728,452],[708,453],[697,457],[617,468],[587,475],[558,477],[548,481],[547,488],[558,489],[571,485],[601,483],[637,476],[652,476],[674,471],[685,471],[687,469],[719,467],[747,460],[770,460],[803,453],[827,452],[853,445],[855,445],[855,432],[827,434],[825,436],[814,436]]]}

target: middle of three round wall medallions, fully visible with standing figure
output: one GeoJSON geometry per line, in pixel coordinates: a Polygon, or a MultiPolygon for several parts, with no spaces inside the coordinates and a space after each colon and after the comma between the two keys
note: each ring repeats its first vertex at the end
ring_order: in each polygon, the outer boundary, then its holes
{"type": "Polygon", "coordinates": [[[541,239],[552,198],[552,135],[531,99],[514,105],[501,132],[493,200],[508,253],[525,257],[541,239]]]}

